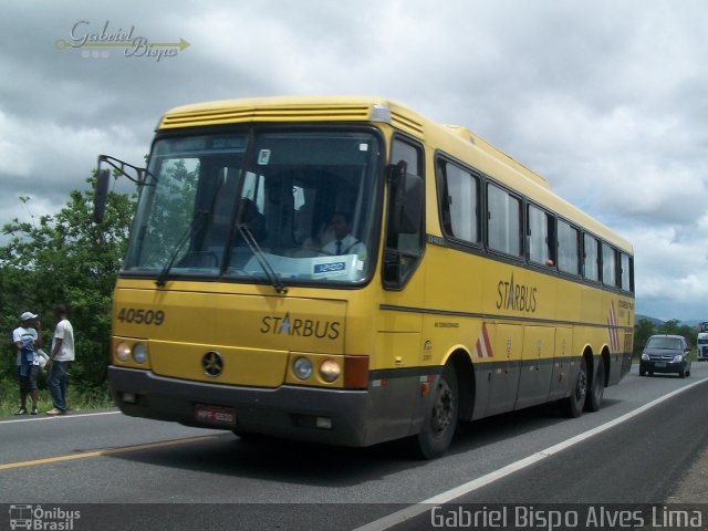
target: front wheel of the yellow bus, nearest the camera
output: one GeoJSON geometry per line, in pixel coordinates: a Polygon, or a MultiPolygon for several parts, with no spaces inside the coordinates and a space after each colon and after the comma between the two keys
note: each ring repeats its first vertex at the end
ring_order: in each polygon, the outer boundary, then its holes
{"type": "Polygon", "coordinates": [[[435,387],[430,410],[416,436],[419,457],[433,459],[449,448],[457,428],[458,397],[455,367],[446,365],[435,387]]]}

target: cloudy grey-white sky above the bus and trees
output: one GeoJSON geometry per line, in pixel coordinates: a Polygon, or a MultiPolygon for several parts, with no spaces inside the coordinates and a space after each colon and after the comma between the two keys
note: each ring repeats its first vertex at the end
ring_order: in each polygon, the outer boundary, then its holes
{"type": "Polygon", "coordinates": [[[0,18],[0,225],[58,211],[100,153],[139,164],[173,106],[383,95],[628,238],[637,313],[708,319],[702,0],[3,0],[0,18]],[[189,45],[66,46],[106,31],[189,45]]]}

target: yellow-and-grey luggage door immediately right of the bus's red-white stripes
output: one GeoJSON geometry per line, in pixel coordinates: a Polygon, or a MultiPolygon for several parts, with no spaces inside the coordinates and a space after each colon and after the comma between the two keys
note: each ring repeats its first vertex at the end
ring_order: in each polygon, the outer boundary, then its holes
{"type": "Polygon", "coordinates": [[[523,327],[513,324],[493,326],[493,363],[489,364],[489,400],[485,416],[513,409],[519,389],[519,368],[523,327]]]}

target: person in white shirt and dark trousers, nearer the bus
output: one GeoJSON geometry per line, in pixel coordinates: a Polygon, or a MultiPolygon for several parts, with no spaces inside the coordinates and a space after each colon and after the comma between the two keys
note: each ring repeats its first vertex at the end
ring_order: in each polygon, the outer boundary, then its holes
{"type": "Polygon", "coordinates": [[[66,306],[58,304],[54,312],[59,322],[54,329],[52,351],[46,362],[49,393],[54,407],[46,412],[46,415],[66,415],[66,372],[75,357],[74,329],[66,319],[66,306]]]}

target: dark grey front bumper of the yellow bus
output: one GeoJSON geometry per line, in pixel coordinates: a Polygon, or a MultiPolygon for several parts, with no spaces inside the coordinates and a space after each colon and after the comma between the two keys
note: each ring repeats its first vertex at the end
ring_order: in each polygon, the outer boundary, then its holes
{"type": "Polygon", "coordinates": [[[225,386],[115,366],[108,367],[108,383],[113,399],[128,416],[341,446],[375,442],[366,429],[366,391],[225,386]],[[197,405],[228,408],[235,423],[208,421],[204,416],[198,419],[197,405]],[[331,427],[317,427],[321,418],[331,419],[331,427]]]}

